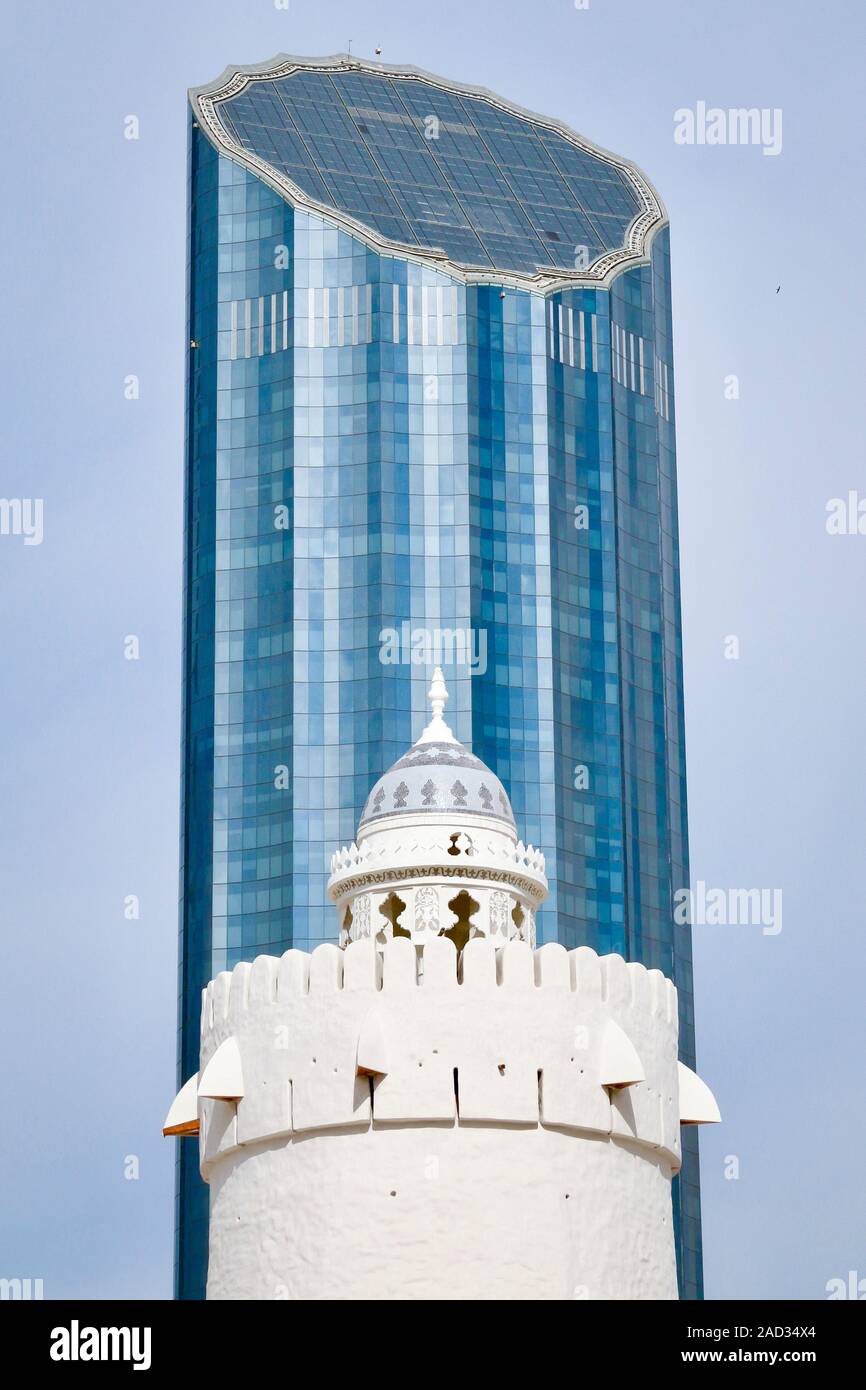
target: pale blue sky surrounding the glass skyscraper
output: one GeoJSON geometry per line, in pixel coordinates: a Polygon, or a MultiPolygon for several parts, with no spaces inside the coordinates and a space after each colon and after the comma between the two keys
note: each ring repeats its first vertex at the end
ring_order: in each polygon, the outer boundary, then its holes
{"type": "Polygon", "coordinates": [[[859,0],[7,0],[0,496],[44,499],[44,539],[0,535],[0,1275],[170,1295],[186,88],[352,40],[667,203],[692,874],[784,894],[778,935],[695,934],[706,1289],[866,1276],[866,535],[824,525],[866,498],[863,29],[859,0]],[[699,100],[781,107],[781,154],[677,145],[699,100]]]}

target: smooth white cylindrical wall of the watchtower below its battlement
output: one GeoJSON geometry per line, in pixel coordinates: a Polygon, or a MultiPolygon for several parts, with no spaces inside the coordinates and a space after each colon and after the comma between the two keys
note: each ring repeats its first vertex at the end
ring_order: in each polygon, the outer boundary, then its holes
{"type": "Polygon", "coordinates": [[[539,1126],[254,1145],[211,1176],[207,1297],[676,1298],[670,1169],[539,1126]]]}

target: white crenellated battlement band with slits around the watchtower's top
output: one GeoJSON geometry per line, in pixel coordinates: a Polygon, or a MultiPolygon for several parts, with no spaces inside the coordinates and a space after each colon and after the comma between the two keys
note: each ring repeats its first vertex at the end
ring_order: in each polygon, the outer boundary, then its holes
{"type": "Polygon", "coordinates": [[[432,937],[259,956],[203,991],[202,1172],[371,1126],[550,1127],[680,1166],[677,997],[659,970],[432,937]]]}

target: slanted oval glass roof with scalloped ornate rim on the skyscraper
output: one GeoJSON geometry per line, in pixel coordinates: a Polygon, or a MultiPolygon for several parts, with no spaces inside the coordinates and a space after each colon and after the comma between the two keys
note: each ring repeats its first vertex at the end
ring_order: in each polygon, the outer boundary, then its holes
{"type": "Polygon", "coordinates": [[[215,146],[299,207],[461,278],[599,281],[664,220],[628,161],[417,68],[278,57],[190,92],[215,146]]]}

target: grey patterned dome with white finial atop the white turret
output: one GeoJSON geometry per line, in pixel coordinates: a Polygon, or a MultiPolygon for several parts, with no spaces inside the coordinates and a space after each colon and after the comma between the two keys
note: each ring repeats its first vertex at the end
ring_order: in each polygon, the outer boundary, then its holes
{"type": "Polygon", "coordinates": [[[392,816],[485,816],[514,830],[506,790],[491,769],[457,742],[442,719],[448,691],[436,667],[428,691],[432,719],[418,741],[375,783],[359,831],[392,816]]]}

